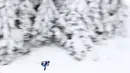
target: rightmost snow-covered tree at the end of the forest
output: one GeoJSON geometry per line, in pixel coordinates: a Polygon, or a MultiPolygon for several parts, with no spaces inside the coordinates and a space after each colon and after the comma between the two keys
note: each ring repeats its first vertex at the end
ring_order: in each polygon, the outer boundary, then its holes
{"type": "Polygon", "coordinates": [[[123,21],[126,15],[124,14],[125,6],[122,3],[122,0],[109,0],[102,4],[102,24],[104,25],[104,34],[107,37],[123,34],[124,32],[122,28],[124,28],[123,21]]]}

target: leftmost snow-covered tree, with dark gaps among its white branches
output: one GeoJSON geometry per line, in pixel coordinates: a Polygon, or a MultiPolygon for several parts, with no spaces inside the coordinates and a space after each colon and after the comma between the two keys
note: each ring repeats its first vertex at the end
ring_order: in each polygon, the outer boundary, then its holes
{"type": "Polygon", "coordinates": [[[24,47],[25,35],[32,23],[32,6],[28,0],[4,0],[1,15],[1,64],[11,62],[15,57],[29,52],[24,47]]]}

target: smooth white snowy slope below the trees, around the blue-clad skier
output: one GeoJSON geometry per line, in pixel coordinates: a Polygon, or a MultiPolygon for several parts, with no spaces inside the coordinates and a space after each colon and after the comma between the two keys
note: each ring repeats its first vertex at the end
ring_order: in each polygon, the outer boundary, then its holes
{"type": "MultiPolygon", "coordinates": [[[[126,3],[130,4],[130,1],[126,0],[126,3]]],[[[127,28],[130,28],[129,21],[127,28]]],[[[95,46],[97,54],[92,51],[81,62],[72,59],[62,48],[45,46],[1,67],[0,73],[130,73],[129,42],[130,37],[109,40],[103,45],[95,46]],[[45,60],[50,61],[46,71],[40,65],[40,61],[45,60]]]]}

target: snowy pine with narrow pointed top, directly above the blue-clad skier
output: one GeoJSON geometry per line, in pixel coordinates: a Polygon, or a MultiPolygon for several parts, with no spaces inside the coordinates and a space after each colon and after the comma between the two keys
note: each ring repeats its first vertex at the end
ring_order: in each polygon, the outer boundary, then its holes
{"type": "Polygon", "coordinates": [[[31,45],[39,47],[45,44],[51,44],[54,39],[52,28],[55,26],[55,20],[58,11],[52,0],[42,0],[37,8],[33,32],[36,32],[31,40],[31,45]]]}

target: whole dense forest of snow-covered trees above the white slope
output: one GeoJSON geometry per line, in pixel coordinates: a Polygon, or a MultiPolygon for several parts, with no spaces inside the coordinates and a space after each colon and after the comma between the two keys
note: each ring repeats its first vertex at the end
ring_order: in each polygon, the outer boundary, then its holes
{"type": "Polygon", "coordinates": [[[0,64],[50,44],[81,61],[94,45],[124,35],[122,1],[0,0],[0,64]]]}

